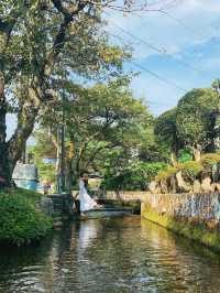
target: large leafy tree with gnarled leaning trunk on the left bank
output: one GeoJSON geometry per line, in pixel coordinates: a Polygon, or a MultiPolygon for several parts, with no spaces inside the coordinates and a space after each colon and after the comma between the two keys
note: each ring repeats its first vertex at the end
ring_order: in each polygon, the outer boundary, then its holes
{"type": "Polygon", "coordinates": [[[127,57],[100,33],[100,8],[107,4],[80,0],[0,3],[0,177],[7,185],[40,111],[57,98],[54,79],[116,74],[113,68],[119,69],[127,57]],[[18,116],[18,128],[7,141],[6,116],[11,111],[18,116]]]}

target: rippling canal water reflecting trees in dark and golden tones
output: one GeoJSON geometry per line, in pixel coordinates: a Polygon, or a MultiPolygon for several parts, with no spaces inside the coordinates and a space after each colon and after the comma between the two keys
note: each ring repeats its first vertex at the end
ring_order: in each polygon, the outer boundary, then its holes
{"type": "Polygon", "coordinates": [[[0,292],[220,292],[217,256],[139,217],[70,224],[0,251],[0,292]]]}

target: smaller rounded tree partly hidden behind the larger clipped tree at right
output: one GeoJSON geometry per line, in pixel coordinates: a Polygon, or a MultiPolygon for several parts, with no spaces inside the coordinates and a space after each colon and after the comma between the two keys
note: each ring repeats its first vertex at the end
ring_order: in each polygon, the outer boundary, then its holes
{"type": "Polygon", "coordinates": [[[155,120],[154,133],[158,148],[164,153],[170,153],[170,161],[175,165],[178,154],[178,139],[176,130],[176,112],[177,108],[162,113],[155,120]]]}

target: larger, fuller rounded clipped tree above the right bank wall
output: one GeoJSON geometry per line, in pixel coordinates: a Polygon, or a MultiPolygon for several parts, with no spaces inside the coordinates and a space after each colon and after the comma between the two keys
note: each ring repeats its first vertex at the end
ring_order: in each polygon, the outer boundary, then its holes
{"type": "Polygon", "coordinates": [[[201,152],[213,144],[213,111],[219,105],[219,95],[212,89],[193,89],[178,102],[176,115],[177,138],[190,148],[196,161],[201,152]]]}

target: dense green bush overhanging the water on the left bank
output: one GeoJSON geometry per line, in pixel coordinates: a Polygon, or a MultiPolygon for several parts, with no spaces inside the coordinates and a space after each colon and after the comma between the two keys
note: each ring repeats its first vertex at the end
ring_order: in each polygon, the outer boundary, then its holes
{"type": "Polygon", "coordinates": [[[0,193],[0,242],[25,245],[44,237],[52,219],[37,208],[41,195],[30,191],[0,193]]]}

